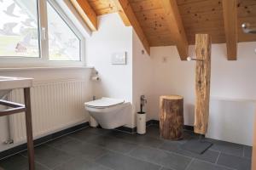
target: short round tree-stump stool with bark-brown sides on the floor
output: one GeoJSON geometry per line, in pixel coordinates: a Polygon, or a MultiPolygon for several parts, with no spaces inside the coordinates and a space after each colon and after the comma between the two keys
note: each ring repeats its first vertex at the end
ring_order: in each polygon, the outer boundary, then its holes
{"type": "Polygon", "coordinates": [[[163,139],[182,139],[183,122],[183,97],[160,96],[160,136],[163,139]]]}

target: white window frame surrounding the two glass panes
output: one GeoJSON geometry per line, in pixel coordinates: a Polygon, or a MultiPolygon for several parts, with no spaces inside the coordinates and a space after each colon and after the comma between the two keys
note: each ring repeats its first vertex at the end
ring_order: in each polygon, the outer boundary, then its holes
{"type": "Polygon", "coordinates": [[[84,66],[85,61],[85,37],[79,31],[73,21],[65,14],[56,0],[36,0],[38,11],[38,57],[26,56],[0,56],[0,68],[6,67],[44,67],[44,66],[84,66]],[[61,19],[79,38],[79,60],[50,60],[49,59],[49,38],[48,38],[48,16],[47,3],[55,9],[61,19]],[[43,31],[44,30],[44,31],[43,31]]]}

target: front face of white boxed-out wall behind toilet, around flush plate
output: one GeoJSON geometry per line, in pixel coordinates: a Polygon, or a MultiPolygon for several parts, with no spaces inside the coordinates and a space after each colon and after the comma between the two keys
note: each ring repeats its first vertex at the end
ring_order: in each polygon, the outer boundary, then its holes
{"type": "MultiPolygon", "coordinates": [[[[94,94],[132,103],[132,28],[123,24],[119,14],[105,14],[98,20],[98,31],[86,40],[87,65],[94,66],[101,78],[94,83],[94,94]],[[111,64],[111,55],[117,52],[127,53],[127,65],[111,64]]],[[[128,122],[132,127],[132,120],[128,122]]]]}

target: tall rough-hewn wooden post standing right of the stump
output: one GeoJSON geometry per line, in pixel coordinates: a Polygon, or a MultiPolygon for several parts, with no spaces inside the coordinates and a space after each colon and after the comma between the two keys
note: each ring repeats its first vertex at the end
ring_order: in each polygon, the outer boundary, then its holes
{"type": "Polygon", "coordinates": [[[210,103],[211,37],[195,35],[195,133],[206,134],[210,103]]]}

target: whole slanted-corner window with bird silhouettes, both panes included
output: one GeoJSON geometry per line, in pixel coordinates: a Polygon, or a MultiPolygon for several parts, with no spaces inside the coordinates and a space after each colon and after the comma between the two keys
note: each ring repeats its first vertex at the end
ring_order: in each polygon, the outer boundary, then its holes
{"type": "Polygon", "coordinates": [[[0,63],[81,61],[84,36],[55,0],[0,0],[0,63]]]}

